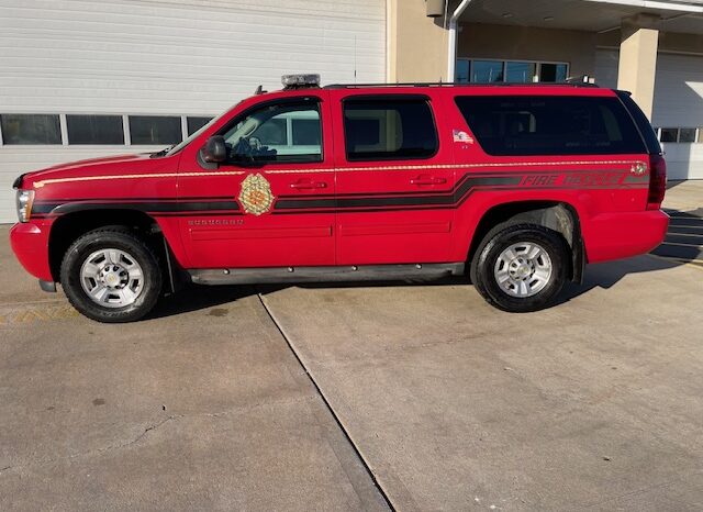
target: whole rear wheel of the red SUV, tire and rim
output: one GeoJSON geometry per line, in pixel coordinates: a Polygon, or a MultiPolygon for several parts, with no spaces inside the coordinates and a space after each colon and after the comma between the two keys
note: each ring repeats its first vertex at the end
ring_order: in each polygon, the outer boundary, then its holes
{"type": "Polygon", "coordinates": [[[499,226],[471,261],[471,281],[483,298],[510,312],[537,311],[567,280],[569,248],[553,230],[534,224],[499,226]]]}

